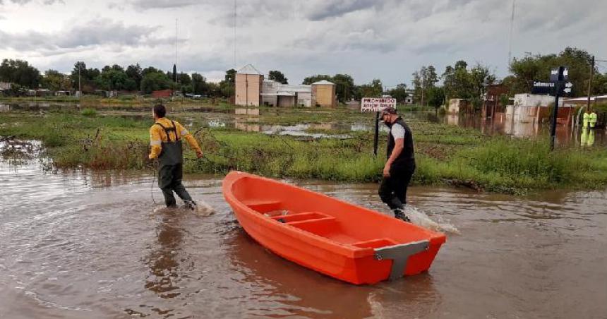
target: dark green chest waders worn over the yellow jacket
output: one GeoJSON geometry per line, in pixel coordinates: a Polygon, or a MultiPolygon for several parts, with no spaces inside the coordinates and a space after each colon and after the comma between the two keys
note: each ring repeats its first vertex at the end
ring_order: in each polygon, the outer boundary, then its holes
{"type": "Polygon", "coordinates": [[[167,141],[161,142],[162,151],[158,156],[160,161],[160,169],[158,171],[158,187],[162,190],[162,195],[164,195],[164,203],[167,204],[167,207],[175,207],[176,201],[173,195],[175,192],[179,198],[184,200],[186,205],[191,207],[192,205],[196,205],[193,202],[190,194],[186,191],[186,188],[181,183],[181,179],[184,176],[184,150],[181,147],[181,138],[177,136],[177,128],[175,126],[174,121],[171,121],[173,127],[166,128],[162,126],[160,123],[156,123],[156,125],[162,127],[164,133],[167,133],[167,141]],[[171,140],[170,132],[175,134],[175,140],[171,140]]]}

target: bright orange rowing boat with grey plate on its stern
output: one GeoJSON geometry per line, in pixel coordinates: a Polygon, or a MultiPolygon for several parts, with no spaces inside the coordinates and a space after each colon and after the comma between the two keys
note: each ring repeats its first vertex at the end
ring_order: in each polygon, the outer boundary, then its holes
{"type": "Polygon", "coordinates": [[[445,234],[272,179],[230,172],[224,197],[253,239],[304,267],[374,284],[428,270],[445,234]]]}

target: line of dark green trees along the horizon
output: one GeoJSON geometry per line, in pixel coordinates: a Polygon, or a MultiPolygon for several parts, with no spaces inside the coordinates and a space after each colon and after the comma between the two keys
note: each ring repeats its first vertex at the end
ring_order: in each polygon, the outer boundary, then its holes
{"type": "MultiPolygon", "coordinates": [[[[470,100],[479,105],[488,85],[502,84],[507,88],[507,97],[517,93],[530,92],[534,80],[548,81],[551,68],[569,67],[569,80],[573,83],[572,96],[586,95],[590,78],[591,56],[582,49],[567,47],[559,54],[526,54],[515,58],[510,64],[510,74],[498,80],[488,66],[476,63],[472,66],[466,61],[456,61],[438,74],[434,66],[422,66],[412,74],[411,88],[414,100],[418,104],[439,107],[452,98],[470,100]]],[[[234,95],[236,70],[226,71],[220,83],[209,82],[199,73],[176,73],[162,71],[153,66],[142,68],[139,64],[124,68],[114,64],[101,70],[88,68],[78,61],[70,74],[47,70],[43,74],[27,61],[4,59],[0,64],[0,82],[11,82],[22,88],[47,88],[49,90],[78,90],[85,93],[95,90],[139,91],[150,94],[154,90],[179,90],[195,95],[213,97],[231,97],[234,95]],[[80,82],[78,82],[80,80],[80,82]]],[[[281,71],[272,70],[270,80],[287,84],[288,79],[281,71]]],[[[381,97],[390,95],[404,102],[410,91],[405,83],[386,89],[381,80],[373,79],[369,83],[354,84],[354,78],[348,74],[317,74],[303,79],[302,84],[312,84],[320,80],[335,83],[335,92],[339,102],[360,100],[362,97],[381,97]]],[[[592,94],[607,94],[607,73],[600,73],[595,66],[592,94]]],[[[502,97],[503,98],[503,97],[502,97]]]]}

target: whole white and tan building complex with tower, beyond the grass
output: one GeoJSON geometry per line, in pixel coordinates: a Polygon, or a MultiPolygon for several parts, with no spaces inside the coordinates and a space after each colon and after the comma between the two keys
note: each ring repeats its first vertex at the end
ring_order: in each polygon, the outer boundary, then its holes
{"type": "Polygon", "coordinates": [[[236,72],[234,104],[270,107],[336,107],[335,84],[327,80],[311,85],[282,84],[268,80],[251,64],[236,72]]]}

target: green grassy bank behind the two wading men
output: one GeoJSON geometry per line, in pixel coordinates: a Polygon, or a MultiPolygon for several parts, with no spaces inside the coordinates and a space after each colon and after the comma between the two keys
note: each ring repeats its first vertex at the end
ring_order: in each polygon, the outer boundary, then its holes
{"type": "MultiPolygon", "coordinates": [[[[292,116],[276,116],[290,121],[306,116],[315,120],[335,117],[353,120],[366,115],[340,110],[335,114],[321,112],[308,116],[293,111],[292,116]]],[[[176,119],[179,121],[179,116],[176,119]]],[[[145,117],[103,116],[90,110],[6,113],[0,114],[0,136],[42,140],[56,167],[146,169],[151,168],[145,156],[150,124],[151,120],[145,117]]],[[[607,186],[604,148],[563,148],[550,152],[547,140],[488,137],[471,129],[416,119],[411,119],[409,125],[416,138],[414,183],[418,185],[447,183],[503,193],[607,186]]],[[[226,128],[200,128],[196,138],[205,158],[194,159],[187,150],[186,171],[224,174],[239,169],[273,177],[378,181],[385,158],[385,136],[380,139],[380,155],[375,159],[371,132],[349,135],[351,138],[344,140],[302,140],[226,128]]]]}

